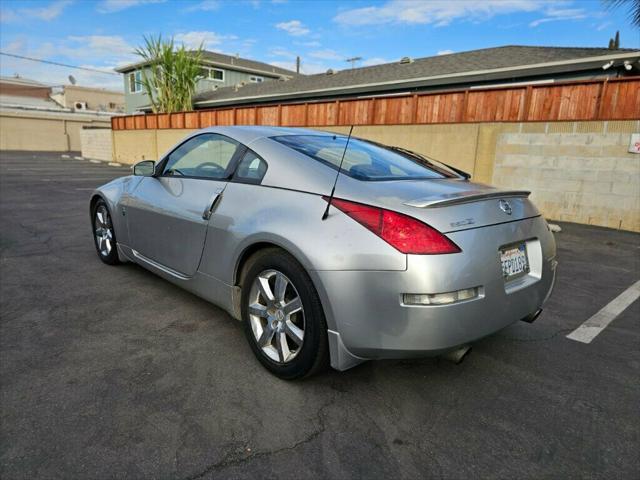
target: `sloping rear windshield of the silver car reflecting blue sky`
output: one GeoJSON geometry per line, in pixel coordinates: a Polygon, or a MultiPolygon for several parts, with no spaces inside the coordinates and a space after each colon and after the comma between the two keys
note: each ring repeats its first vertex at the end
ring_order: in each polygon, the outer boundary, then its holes
{"type": "MultiPolygon", "coordinates": [[[[347,137],[331,135],[283,135],[276,142],[338,169],[347,137]]],[[[420,180],[453,178],[453,172],[432,165],[418,155],[394,151],[391,147],[351,138],[342,171],[358,180],[420,180]]]]}

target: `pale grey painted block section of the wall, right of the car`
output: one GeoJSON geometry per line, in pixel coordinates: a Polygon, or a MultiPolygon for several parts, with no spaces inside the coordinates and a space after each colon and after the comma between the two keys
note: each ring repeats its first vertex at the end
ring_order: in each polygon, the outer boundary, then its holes
{"type": "Polygon", "coordinates": [[[640,231],[640,155],[628,152],[640,121],[569,123],[501,133],[492,183],[531,190],[547,218],[640,231]]]}

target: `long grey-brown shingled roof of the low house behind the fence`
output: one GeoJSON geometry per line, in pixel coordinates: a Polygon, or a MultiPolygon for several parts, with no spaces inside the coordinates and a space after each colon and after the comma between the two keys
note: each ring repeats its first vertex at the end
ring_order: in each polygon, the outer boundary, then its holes
{"type": "MultiPolygon", "coordinates": [[[[466,72],[486,71],[492,69],[512,68],[526,65],[539,65],[549,62],[563,62],[611,55],[630,53],[640,50],[607,48],[564,48],[564,47],[527,47],[504,46],[453,53],[435,57],[413,60],[411,63],[399,62],[375,65],[371,67],[341,70],[334,74],[320,73],[316,75],[300,75],[287,81],[272,81],[259,84],[248,84],[240,88],[223,87],[203,92],[196,96],[195,103],[231,102],[234,99],[253,99],[255,102],[269,100],[268,97],[286,97],[303,92],[317,90],[335,90],[367,84],[393,84],[394,82],[411,81],[425,77],[443,76],[441,84],[450,83],[447,76],[464,75],[466,72]],[[261,98],[266,97],[266,98],[261,98]]],[[[504,77],[513,77],[513,74],[504,77]]],[[[402,86],[394,86],[402,88],[402,86]]]]}

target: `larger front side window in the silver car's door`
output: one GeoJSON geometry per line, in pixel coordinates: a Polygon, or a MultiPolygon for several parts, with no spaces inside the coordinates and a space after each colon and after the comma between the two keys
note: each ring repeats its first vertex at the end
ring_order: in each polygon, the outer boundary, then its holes
{"type": "Polygon", "coordinates": [[[203,177],[216,180],[229,176],[238,143],[223,135],[198,135],[169,154],[163,175],[203,177]]]}

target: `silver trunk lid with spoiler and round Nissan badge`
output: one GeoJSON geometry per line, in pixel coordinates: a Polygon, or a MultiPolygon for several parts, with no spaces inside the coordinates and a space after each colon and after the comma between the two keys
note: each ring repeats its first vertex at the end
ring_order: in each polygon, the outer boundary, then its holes
{"type": "Polygon", "coordinates": [[[528,191],[500,190],[461,179],[362,182],[349,178],[348,183],[340,179],[336,197],[404,213],[442,233],[540,214],[528,191]]]}

